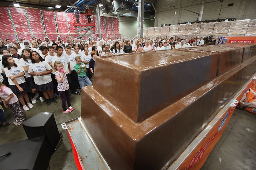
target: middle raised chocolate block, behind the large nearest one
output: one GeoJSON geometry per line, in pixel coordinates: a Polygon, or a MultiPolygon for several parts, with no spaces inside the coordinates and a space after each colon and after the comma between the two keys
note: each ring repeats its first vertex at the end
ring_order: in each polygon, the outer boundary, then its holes
{"type": "Polygon", "coordinates": [[[224,47],[218,45],[207,45],[193,48],[180,48],[180,51],[214,52],[218,54],[217,76],[235,68],[242,63],[243,49],[235,47],[224,47]]]}

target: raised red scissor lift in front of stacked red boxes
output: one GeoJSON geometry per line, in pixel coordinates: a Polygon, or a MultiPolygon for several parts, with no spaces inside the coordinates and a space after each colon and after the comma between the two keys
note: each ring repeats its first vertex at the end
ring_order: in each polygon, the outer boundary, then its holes
{"type": "Polygon", "coordinates": [[[76,37],[77,39],[82,38],[84,36],[90,37],[91,39],[94,39],[92,34],[94,34],[94,31],[91,30],[95,26],[95,16],[94,15],[88,15],[88,14],[73,14],[73,25],[78,28],[75,33],[79,35],[76,37]],[[78,17],[79,16],[79,17],[78,17]]]}

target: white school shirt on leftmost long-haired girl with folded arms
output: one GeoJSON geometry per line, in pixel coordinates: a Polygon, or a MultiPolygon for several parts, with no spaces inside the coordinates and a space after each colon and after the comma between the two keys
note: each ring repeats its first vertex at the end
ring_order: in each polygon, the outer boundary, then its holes
{"type": "MultiPolygon", "coordinates": [[[[16,63],[17,64],[17,63],[16,63]]],[[[19,75],[20,73],[22,73],[24,70],[24,68],[20,65],[20,64],[17,64],[17,67],[16,66],[12,66],[10,70],[8,70],[8,68],[6,67],[5,68],[5,75],[6,77],[8,77],[8,82],[9,82],[9,85],[15,85],[13,83],[13,81],[10,79],[10,76],[13,76],[13,75],[19,75]]],[[[25,78],[23,76],[21,77],[16,77],[15,80],[17,81],[18,84],[21,84],[21,83],[25,83],[25,78]]]]}

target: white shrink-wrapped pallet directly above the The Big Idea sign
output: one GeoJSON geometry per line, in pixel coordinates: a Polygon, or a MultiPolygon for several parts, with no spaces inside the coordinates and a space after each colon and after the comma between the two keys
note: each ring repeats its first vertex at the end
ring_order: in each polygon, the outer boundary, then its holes
{"type": "Polygon", "coordinates": [[[251,21],[250,19],[232,21],[230,24],[228,34],[244,34],[245,35],[250,21],[251,21]]]}

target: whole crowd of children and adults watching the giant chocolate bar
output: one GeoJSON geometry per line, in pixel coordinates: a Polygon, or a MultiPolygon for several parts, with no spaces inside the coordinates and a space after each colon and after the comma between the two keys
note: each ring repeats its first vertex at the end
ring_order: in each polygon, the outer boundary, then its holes
{"type": "MultiPolygon", "coordinates": [[[[50,40],[33,37],[20,39],[19,43],[10,39],[0,40],[0,96],[3,106],[13,110],[14,125],[25,121],[24,111],[36,104],[35,93],[46,105],[57,103],[60,97],[63,113],[74,110],[71,94],[80,95],[81,88],[92,85],[94,65],[97,56],[189,48],[204,45],[202,37],[196,42],[192,37],[181,39],[178,36],[127,39],[87,39],[72,40],[60,36],[50,40]],[[29,98],[31,97],[31,100],[29,98]],[[31,101],[31,103],[30,103],[31,101]],[[22,107],[20,106],[22,105],[22,107]],[[21,109],[22,108],[22,109],[21,109]]],[[[0,106],[1,107],[1,106],[0,106]]],[[[0,108],[0,126],[9,125],[0,108]]]]}

